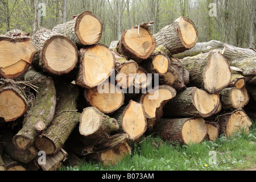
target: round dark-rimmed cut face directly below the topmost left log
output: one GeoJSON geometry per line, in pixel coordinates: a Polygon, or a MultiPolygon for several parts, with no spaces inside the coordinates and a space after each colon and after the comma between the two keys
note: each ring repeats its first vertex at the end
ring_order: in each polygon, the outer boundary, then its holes
{"type": "Polygon", "coordinates": [[[63,75],[71,72],[78,62],[78,52],[75,43],[65,36],[52,36],[41,52],[44,68],[53,75],[63,75]]]}

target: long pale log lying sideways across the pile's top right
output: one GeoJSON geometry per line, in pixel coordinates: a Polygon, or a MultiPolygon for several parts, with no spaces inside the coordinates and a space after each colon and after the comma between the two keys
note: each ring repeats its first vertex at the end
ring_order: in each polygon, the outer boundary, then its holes
{"type": "Polygon", "coordinates": [[[174,55],[179,59],[184,57],[196,56],[200,53],[207,53],[213,50],[222,52],[224,50],[224,56],[229,61],[230,66],[241,68],[243,76],[255,76],[256,75],[256,52],[252,49],[234,47],[229,44],[211,40],[210,42],[197,43],[195,47],[188,51],[178,53],[174,55]]]}

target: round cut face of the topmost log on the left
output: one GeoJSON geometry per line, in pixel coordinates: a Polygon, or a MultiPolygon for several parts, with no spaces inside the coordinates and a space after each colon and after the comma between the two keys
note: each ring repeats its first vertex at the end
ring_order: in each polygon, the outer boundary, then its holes
{"type": "Polygon", "coordinates": [[[83,45],[97,44],[102,35],[103,24],[100,19],[89,11],[76,17],[75,32],[83,45]]]}

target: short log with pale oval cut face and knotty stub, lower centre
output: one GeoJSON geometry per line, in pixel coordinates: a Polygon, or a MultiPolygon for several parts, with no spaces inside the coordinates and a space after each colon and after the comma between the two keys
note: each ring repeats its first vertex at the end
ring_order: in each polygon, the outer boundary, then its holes
{"type": "Polygon", "coordinates": [[[92,148],[118,129],[118,123],[114,118],[110,118],[95,107],[86,107],[80,117],[80,135],[77,138],[85,146],[92,148]]]}

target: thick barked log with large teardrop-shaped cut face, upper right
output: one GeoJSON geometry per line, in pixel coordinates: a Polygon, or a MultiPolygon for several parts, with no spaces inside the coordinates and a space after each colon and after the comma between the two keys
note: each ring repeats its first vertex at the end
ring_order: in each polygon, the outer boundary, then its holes
{"type": "Polygon", "coordinates": [[[189,71],[189,86],[204,88],[213,94],[230,84],[232,72],[228,61],[220,52],[185,57],[181,63],[189,71]]]}

